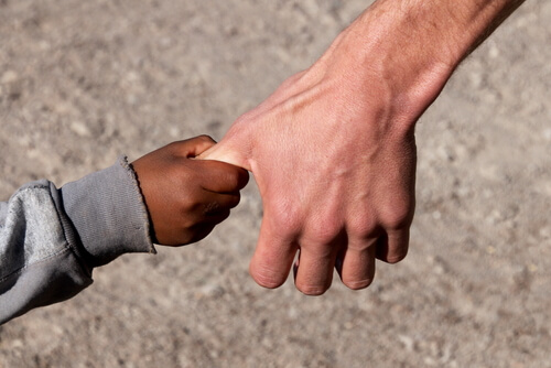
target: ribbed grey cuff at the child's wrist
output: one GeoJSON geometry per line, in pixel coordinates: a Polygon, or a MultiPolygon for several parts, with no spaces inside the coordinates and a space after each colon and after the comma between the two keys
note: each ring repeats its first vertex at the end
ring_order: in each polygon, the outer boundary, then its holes
{"type": "Polygon", "coordinates": [[[91,267],[129,252],[155,253],[136,173],[126,156],[61,188],[65,213],[91,267]]]}

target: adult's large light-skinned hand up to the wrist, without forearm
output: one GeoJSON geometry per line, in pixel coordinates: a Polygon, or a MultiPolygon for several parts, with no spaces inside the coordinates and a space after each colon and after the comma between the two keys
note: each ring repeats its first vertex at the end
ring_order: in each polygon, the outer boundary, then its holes
{"type": "Polygon", "coordinates": [[[408,251],[413,121],[380,80],[358,86],[335,72],[316,65],[291,77],[206,155],[256,177],[263,220],[250,273],[262,286],[285,281],[299,249],[295,284],[312,295],[329,288],[335,264],[361,289],[376,256],[398,262],[408,251]]]}

